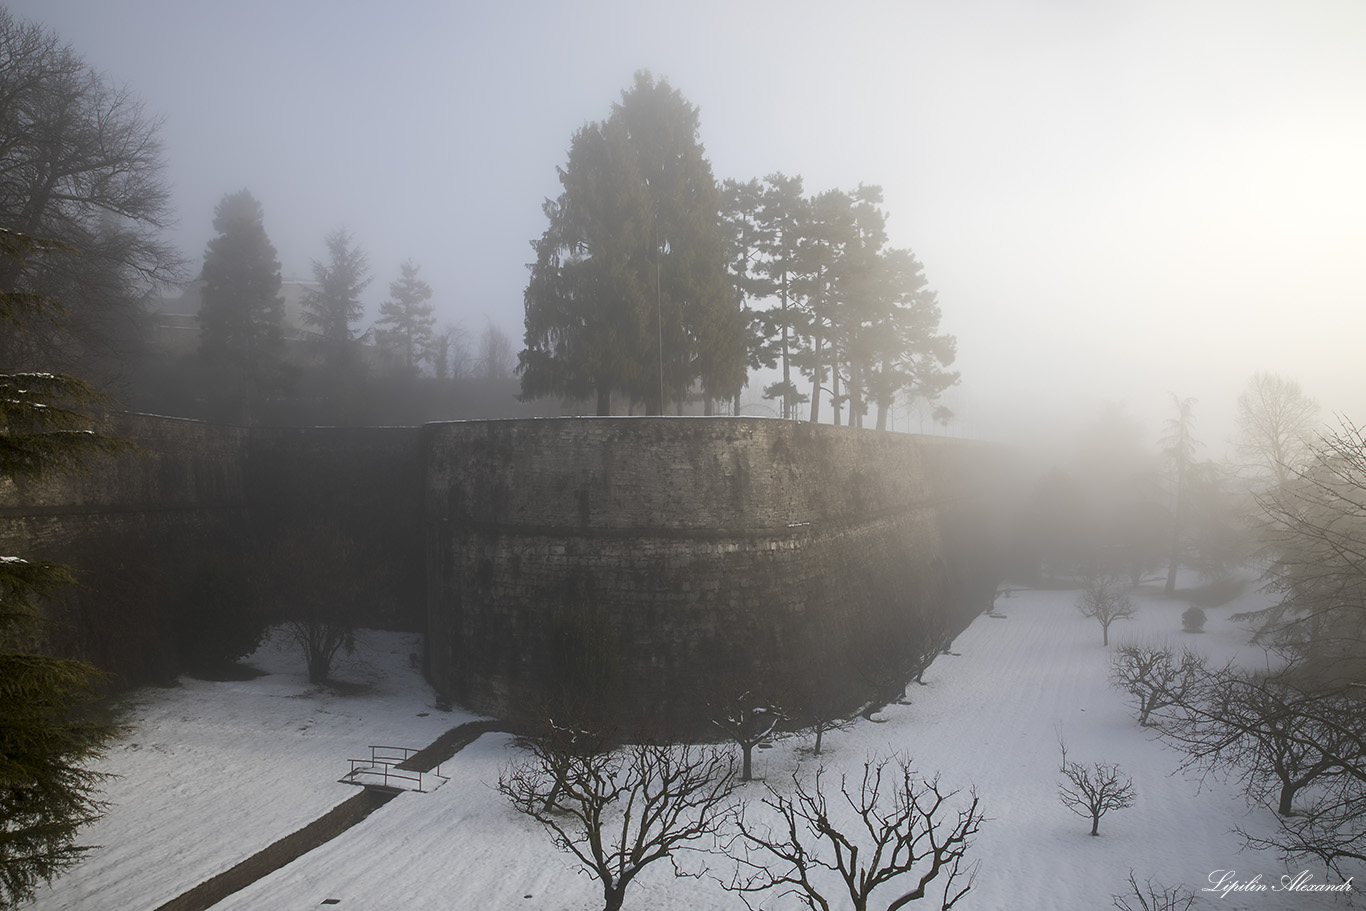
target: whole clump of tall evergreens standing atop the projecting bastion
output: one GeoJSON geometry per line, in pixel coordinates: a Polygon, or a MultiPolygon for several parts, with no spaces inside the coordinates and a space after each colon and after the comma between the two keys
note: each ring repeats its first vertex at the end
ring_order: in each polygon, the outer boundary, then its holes
{"type": "Polygon", "coordinates": [[[881,188],[717,184],[698,111],[667,81],[638,72],[575,132],[560,183],[526,288],[525,397],[663,414],[699,395],[710,414],[769,367],[781,417],[809,402],[818,421],[825,393],[836,423],[876,406],[881,429],[899,395],[934,402],[958,381],[923,268],[887,246],[881,188]]]}

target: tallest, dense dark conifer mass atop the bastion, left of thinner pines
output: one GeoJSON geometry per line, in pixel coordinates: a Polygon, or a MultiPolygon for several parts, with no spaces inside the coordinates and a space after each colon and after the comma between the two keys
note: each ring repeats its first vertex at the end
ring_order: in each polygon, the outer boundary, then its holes
{"type": "Polygon", "coordinates": [[[574,135],[560,183],[526,288],[523,397],[609,414],[616,393],[661,414],[695,384],[708,406],[739,393],[744,320],[697,108],[637,74],[608,120],[574,135]]]}

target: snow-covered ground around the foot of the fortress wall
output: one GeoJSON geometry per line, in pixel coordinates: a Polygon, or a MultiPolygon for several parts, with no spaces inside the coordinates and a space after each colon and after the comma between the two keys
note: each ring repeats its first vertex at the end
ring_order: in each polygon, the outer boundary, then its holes
{"type": "MultiPolygon", "coordinates": [[[[1075,597],[1016,590],[1000,598],[1003,617],[978,617],[953,643],[953,654],[925,675],[926,686],[911,687],[911,705],[887,709],[881,724],[859,721],[828,735],[825,762],[856,774],[867,755],[899,751],[923,774],[940,772],[945,785],[977,788],[988,819],[968,855],[981,867],[962,908],[1111,908],[1130,869],[1141,882],[1153,878],[1197,892],[1216,870],[1274,884],[1305,869],[1324,881],[1318,866],[1287,869],[1274,855],[1240,852],[1242,840],[1229,830],[1270,832],[1270,813],[1249,811],[1235,789],[1176,772],[1177,754],[1139,728],[1121,694],[1108,686],[1100,626],[1076,612],[1075,597]],[[1135,806],[1108,814],[1101,837],[1090,837],[1089,819],[1057,800],[1059,731],[1070,761],[1117,762],[1134,779],[1135,806]]],[[[1184,601],[1141,591],[1138,616],[1112,626],[1111,642],[1168,639],[1216,660],[1239,653],[1259,661],[1246,631],[1227,621],[1259,598],[1249,593],[1208,609],[1208,632],[1193,635],[1182,632],[1184,601]]],[[[417,636],[365,632],[357,654],[337,668],[336,677],[348,684],[337,692],[310,687],[302,660],[273,639],[251,658],[265,676],[186,679],[179,687],[137,692],[131,731],[102,762],[119,776],[108,787],[108,817],[87,836],[102,847],[27,908],[150,911],[355,794],[337,779],[348,758],[367,755],[369,744],[421,747],[470,720],[434,707],[432,690],[411,667],[418,650],[417,636]]],[[[805,746],[809,738],[795,736],[758,751],[755,774],[780,785],[799,763],[814,769],[805,746]]],[[[601,907],[596,881],[575,873],[541,828],[494,789],[499,769],[514,755],[510,738],[485,735],[445,763],[448,784],[402,794],[214,908],[303,911],[329,899],[342,911],[601,907]]],[[[755,802],[762,794],[758,783],[742,789],[755,802]]],[[[684,859],[690,867],[706,862],[701,855],[684,859]]],[[[661,862],[631,885],[626,907],[743,904],[710,878],[676,880],[661,862]]],[[[1194,907],[1348,906],[1325,895],[1206,892],[1194,907]]]]}

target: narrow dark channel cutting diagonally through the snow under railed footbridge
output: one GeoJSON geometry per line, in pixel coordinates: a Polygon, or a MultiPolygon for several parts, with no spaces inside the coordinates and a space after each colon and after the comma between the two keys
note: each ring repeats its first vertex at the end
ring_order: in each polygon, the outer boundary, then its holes
{"type": "MultiPolygon", "coordinates": [[[[430,746],[423,747],[399,768],[413,772],[430,772],[456,753],[470,746],[479,736],[501,729],[499,721],[469,721],[451,728],[430,746]]],[[[210,877],[171,899],[156,911],[209,911],[234,892],[240,892],[257,880],[262,880],[309,851],[326,844],[347,829],[358,825],[367,815],[396,798],[400,791],[391,788],[365,787],[355,796],[328,810],[298,832],[284,836],[268,848],[257,851],[250,858],[223,873],[210,877]]]]}

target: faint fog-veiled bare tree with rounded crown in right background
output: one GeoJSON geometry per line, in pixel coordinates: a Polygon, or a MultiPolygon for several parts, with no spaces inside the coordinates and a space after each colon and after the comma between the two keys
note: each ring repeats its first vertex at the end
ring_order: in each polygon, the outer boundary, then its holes
{"type": "Polygon", "coordinates": [[[1294,380],[1258,372],[1238,396],[1238,453],[1284,486],[1313,455],[1318,403],[1294,380]]]}

